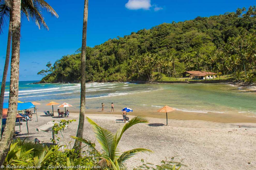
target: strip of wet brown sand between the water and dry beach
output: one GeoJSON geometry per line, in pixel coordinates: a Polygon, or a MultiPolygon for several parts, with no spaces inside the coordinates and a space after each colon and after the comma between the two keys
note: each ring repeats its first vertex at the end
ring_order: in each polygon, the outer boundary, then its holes
{"type": "MultiPolygon", "coordinates": [[[[56,102],[60,102],[57,101],[56,102]]],[[[42,105],[37,106],[37,112],[42,113],[45,108],[44,102],[41,103],[42,105]]],[[[119,107],[116,107],[118,109],[119,107]]],[[[57,107],[55,108],[55,110],[57,107]]],[[[79,108],[75,107],[70,107],[67,108],[70,113],[74,113],[76,115],[79,115],[79,108]]],[[[51,109],[48,108],[50,112],[51,109]]],[[[120,110],[120,109],[119,109],[120,110]]],[[[102,113],[99,110],[95,109],[86,109],[85,114],[90,114],[90,115],[95,115],[95,114],[108,114],[108,115],[121,115],[121,111],[116,112],[110,112],[108,108],[105,108],[105,111],[102,113]]],[[[56,112],[54,113],[55,115],[57,114],[56,112]]],[[[58,115],[58,114],[57,114],[58,115]]],[[[151,109],[148,111],[133,111],[129,112],[128,115],[132,116],[138,116],[142,115],[148,118],[162,118],[165,119],[166,123],[166,114],[165,113],[159,113],[157,112],[157,109],[151,109]]],[[[256,115],[255,114],[246,114],[246,113],[213,113],[213,112],[207,112],[207,113],[202,113],[202,112],[185,112],[185,111],[179,111],[175,110],[173,112],[168,113],[168,119],[171,120],[200,120],[200,121],[207,121],[207,122],[217,122],[217,123],[256,123],[256,115]]],[[[164,123],[164,121],[163,121],[164,123]]]]}

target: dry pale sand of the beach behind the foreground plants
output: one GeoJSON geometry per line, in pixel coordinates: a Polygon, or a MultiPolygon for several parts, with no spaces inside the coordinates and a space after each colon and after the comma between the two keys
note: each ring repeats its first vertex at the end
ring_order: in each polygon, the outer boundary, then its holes
{"type": "MultiPolygon", "coordinates": [[[[38,138],[50,142],[51,132],[37,132],[36,128],[51,120],[61,120],[50,116],[40,116],[38,122],[29,121],[29,139],[38,138]]],[[[87,114],[102,127],[115,132],[124,125],[120,115],[87,114]]],[[[129,116],[132,118],[133,116],[129,116]]],[[[64,119],[78,120],[78,114],[72,114],[64,119]]],[[[176,161],[188,165],[182,169],[256,169],[256,123],[215,123],[200,120],[171,120],[169,125],[164,118],[148,118],[149,123],[134,125],[127,130],[119,142],[122,151],[132,148],[147,148],[153,154],[138,154],[127,162],[129,169],[140,164],[140,159],[150,163],[160,164],[165,157],[176,156],[176,161]],[[160,125],[160,126],[159,126],[160,125]],[[241,126],[241,128],[239,128],[241,126]]],[[[26,137],[26,123],[21,126],[18,137],[26,137]]],[[[63,131],[68,143],[71,135],[76,135],[78,121],[72,122],[63,131]]],[[[16,126],[16,130],[19,130],[16,126]]],[[[85,121],[84,137],[95,141],[91,125],[85,121]]],[[[96,142],[96,146],[99,144],[96,142]]]]}

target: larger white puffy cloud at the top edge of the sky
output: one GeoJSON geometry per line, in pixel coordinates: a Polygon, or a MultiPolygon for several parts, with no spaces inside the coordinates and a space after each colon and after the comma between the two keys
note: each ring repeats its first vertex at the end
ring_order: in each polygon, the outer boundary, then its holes
{"type": "Polygon", "coordinates": [[[125,7],[129,10],[149,10],[149,8],[151,7],[151,3],[150,0],[129,0],[125,4],[125,7]]]}

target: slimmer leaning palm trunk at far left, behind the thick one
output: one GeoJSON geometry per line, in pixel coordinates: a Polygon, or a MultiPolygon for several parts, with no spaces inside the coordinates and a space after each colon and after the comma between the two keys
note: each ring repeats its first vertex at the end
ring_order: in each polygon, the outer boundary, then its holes
{"type": "MultiPolygon", "coordinates": [[[[8,31],[8,38],[7,38],[7,48],[6,48],[6,56],[5,56],[5,64],[4,64],[4,72],[3,72],[3,79],[1,85],[1,92],[0,92],[0,127],[2,127],[2,116],[3,116],[3,104],[4,104],[4,90],[5,90],[5,83],[7,78],[9,60],[10,60],[10,51],[11,51],[11,40],[12,40],[12,10],[10,10],[10,21],[9,21],[9,31],[8,31]]],[[[2,131],[0,131],[0,140],[2,140],[2,131]]]]}

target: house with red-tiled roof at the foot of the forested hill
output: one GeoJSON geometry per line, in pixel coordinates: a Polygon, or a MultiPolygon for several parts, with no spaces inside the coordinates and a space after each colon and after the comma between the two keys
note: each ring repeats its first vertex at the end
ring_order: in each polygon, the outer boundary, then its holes
{"type": "Polygon", "coordinates": [[[182,75],[183,78],[207,80],[215,79],[217,73],[206,71],[185,71],[182,75]]]}

